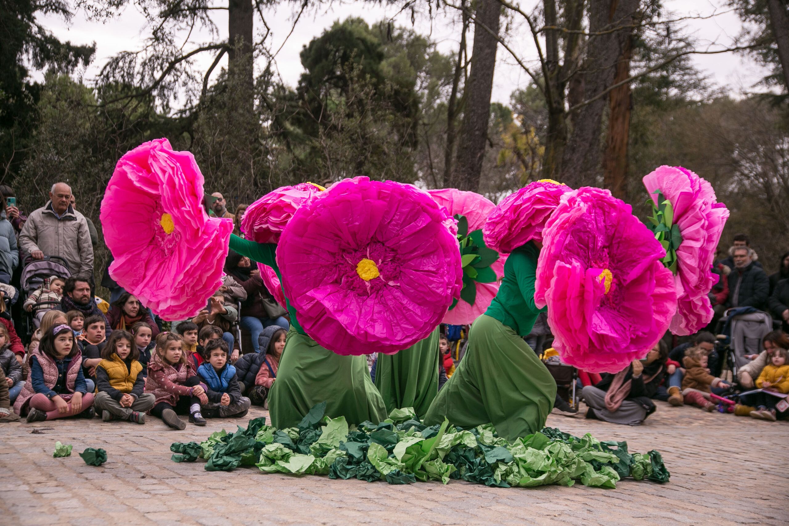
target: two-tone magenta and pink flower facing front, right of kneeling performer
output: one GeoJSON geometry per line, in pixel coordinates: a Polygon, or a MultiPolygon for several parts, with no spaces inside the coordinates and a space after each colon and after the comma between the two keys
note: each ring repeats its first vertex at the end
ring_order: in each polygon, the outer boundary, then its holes
{"type": "Polygon", "coordinates": [[[545,226],[534,302],[548,304],[568,364],[618,372],[643,358],[676,310],[665,250],[630,205],[600,188],[562,196],[545,226]]]}

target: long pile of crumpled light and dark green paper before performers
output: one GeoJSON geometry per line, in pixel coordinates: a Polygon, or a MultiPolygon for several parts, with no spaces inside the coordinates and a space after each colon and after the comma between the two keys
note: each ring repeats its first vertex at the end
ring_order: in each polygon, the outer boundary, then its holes
{"type": "Polygon", "coordinates": [[[358,426],[349,426],[344,416],[324,416],[325,409],[325,403],[316,405],[298,427],[275,429],[256,418],[235,433],[222,430],[204,442],[174,443],[170,450],[178,454],[172,459],[204,458],[207,471],[255,465],[264,473],[391,484],[462,479],[495,487],[580,482],[614,488],[626,476],[658,483],[671,476],[657,451],[630,453],[626,442],[600,442],[588,433],[578,438],[544,427],[510,444],[490,424],[464,430],[445,420],[425,426],[412,408],[394,409],[383,422],[358,426]]]}

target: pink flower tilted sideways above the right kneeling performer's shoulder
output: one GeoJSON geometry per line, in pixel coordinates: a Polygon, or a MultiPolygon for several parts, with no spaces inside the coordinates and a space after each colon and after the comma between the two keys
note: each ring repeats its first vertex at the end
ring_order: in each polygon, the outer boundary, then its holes
{"type": "Polygon", "coordinates": [[[525,185],[505,197],[482,228],[488,247],[509,254],[527,241],[542,241],[545,222],[572,188],[551,179],[525,185]]]}

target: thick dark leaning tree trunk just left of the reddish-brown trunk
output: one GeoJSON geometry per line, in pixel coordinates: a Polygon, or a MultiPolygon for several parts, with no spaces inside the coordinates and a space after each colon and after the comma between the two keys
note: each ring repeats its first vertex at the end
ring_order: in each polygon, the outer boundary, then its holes
{"type": "MultiPolygon", "coordinates": [[[[589,33],[633,24],[639,0],[591,0],[589,33]]],[[[613,84],[623,54],[623,28],[604,35],[590,35],[584,67],[584,100],[594,99],[613,84]]],[[[582,106],[564,151],[562,182],[570,186],[597,185],[600,176],[600,128],[607,97],[582,106]]]]}

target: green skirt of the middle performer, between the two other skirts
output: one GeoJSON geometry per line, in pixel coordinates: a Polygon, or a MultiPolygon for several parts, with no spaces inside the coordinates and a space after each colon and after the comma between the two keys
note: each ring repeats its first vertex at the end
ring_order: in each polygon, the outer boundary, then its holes
{"type": "Polygon", "coordinates": [[[420,419],[439,392],[439,328],[397,354],[378,354],[376,387],[387,411],[413,407],[420,419]]]}

